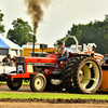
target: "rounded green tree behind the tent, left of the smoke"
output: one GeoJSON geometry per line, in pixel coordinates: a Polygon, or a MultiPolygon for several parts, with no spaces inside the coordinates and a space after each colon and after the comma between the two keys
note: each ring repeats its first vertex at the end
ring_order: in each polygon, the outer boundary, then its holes
{"type": "Polygon", "coordinates": [[[6,35],[11,41],[21,46],[27,42],[32,42],[32,30],[28,22],[17,18],[13,21],[12,25],[13,29],[10,29],[6,35]]]}

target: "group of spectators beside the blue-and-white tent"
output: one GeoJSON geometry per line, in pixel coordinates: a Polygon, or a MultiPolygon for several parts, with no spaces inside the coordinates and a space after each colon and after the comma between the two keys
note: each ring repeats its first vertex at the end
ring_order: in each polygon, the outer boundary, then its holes
{"type": "Polygon", "coordinates": [[[8,54],[3,59],[2,59],[3,65],[11,65],[11,64],[15,64],[15,56],[13,56],[13,58],[11,58],[11,55],[8,54]]]}

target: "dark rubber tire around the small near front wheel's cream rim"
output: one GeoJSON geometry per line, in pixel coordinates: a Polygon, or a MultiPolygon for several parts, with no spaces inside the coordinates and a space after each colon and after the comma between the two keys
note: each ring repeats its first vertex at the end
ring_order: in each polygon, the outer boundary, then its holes
{"type": "Polygon", "coordinates": [[[31,79],[30,79],[30,89],[31,89],[31,91],[33,91],[33,92],[42,92],[45,89],[45,86],[46,86],[46,79],[45,79],[45,77],[42,73],[36,73],[36,75],[33,75],[31,77],[31,79]],[[41,89],[37,89],[35,86],[35,81],[39,77],[41,77],[43,79],[43,82],[44,82],[43,86],[41,89]]]}

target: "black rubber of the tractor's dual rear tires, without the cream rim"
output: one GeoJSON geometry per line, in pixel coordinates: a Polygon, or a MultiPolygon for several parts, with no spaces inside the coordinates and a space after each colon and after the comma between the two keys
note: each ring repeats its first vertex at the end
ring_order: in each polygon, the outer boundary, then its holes
{"type": "Polygon", "coordinates": [[[102,68],[98,65],[97,60],[95,58],[93,58],[93,57],[83,56],[82,58],[81,57],[69,58],[66,62],[66,64],[64,65],[63,70],[64,71],[62,73],[62,80],[63,80],[64,85],[65,85],[65,87],[66,87],[66,90],[68,92],[92,94],[92,93],[95,93],[98,90],[99,85],[100,85],[100,82],[102,82],[102,68]],[[86,60],[94,62],[97,65],[98,69],[99,69],[99,81],[98,81],[98,84],[92,91],[84,91],[81,87],[80,83],[79,83],[79,71],[80,71],[81,66],[86,60]]]}

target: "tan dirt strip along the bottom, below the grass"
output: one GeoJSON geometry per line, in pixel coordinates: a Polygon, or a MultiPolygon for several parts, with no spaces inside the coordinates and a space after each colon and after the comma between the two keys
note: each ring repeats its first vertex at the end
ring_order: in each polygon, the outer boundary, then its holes
{"type": "Polygon", "coordinates": [[[95,104],[0,103],[0,108],[108,108],[95,104]]]}

